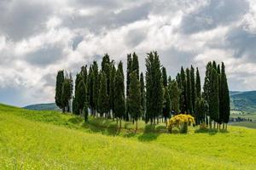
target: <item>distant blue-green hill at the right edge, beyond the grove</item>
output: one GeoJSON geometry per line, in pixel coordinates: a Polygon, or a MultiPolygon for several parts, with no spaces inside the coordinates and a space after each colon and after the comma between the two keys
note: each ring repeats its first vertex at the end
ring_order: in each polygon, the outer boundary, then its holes
{"type": "Polygon", "coordinates": [[[256,91],[230,91],[231,110],[256,112],[256,91]]]}

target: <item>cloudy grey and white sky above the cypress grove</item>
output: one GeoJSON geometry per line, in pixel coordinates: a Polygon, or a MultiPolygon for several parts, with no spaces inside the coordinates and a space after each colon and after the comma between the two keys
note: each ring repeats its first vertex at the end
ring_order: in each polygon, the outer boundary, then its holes
{"type": "Polygon", "coordinates": [[[168,75],[224,61],[230,90],[256,89],[255,0],[1,0],[0,103],[55,101],[55,76],[157,50],[168,75]]]}

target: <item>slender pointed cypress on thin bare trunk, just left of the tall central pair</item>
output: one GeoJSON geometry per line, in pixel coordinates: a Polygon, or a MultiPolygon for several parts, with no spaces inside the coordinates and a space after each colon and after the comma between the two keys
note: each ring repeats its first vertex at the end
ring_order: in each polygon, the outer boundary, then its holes
{"type": "Polygon", "coordinates": [[[114,113],[119,118],[119,128],[121,128],[121,121],[125,115],[125,85],[121,61],[119,62],[114,80],[114,113]]]}

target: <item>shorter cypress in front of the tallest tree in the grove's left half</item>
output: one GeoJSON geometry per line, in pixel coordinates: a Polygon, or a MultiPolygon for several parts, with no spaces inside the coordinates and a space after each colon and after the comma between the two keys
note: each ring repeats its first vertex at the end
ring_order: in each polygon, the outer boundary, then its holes
{"type": "Polygon", "coordinates": [[[107,89],[107,77],[105,72],[101,73],[101,83],[98,95],[98,112],[103,116],[104,113],[109,111],[109,99],[107,89]]]}

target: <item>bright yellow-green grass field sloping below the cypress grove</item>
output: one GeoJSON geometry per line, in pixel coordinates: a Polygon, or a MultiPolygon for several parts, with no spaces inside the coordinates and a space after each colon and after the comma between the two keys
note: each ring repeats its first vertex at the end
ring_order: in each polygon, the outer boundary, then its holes
{"type": "Polygon", "coordinates": [[[0,169],[255,169],[256,130],[156,127],[0,105],[0,169]]]}

